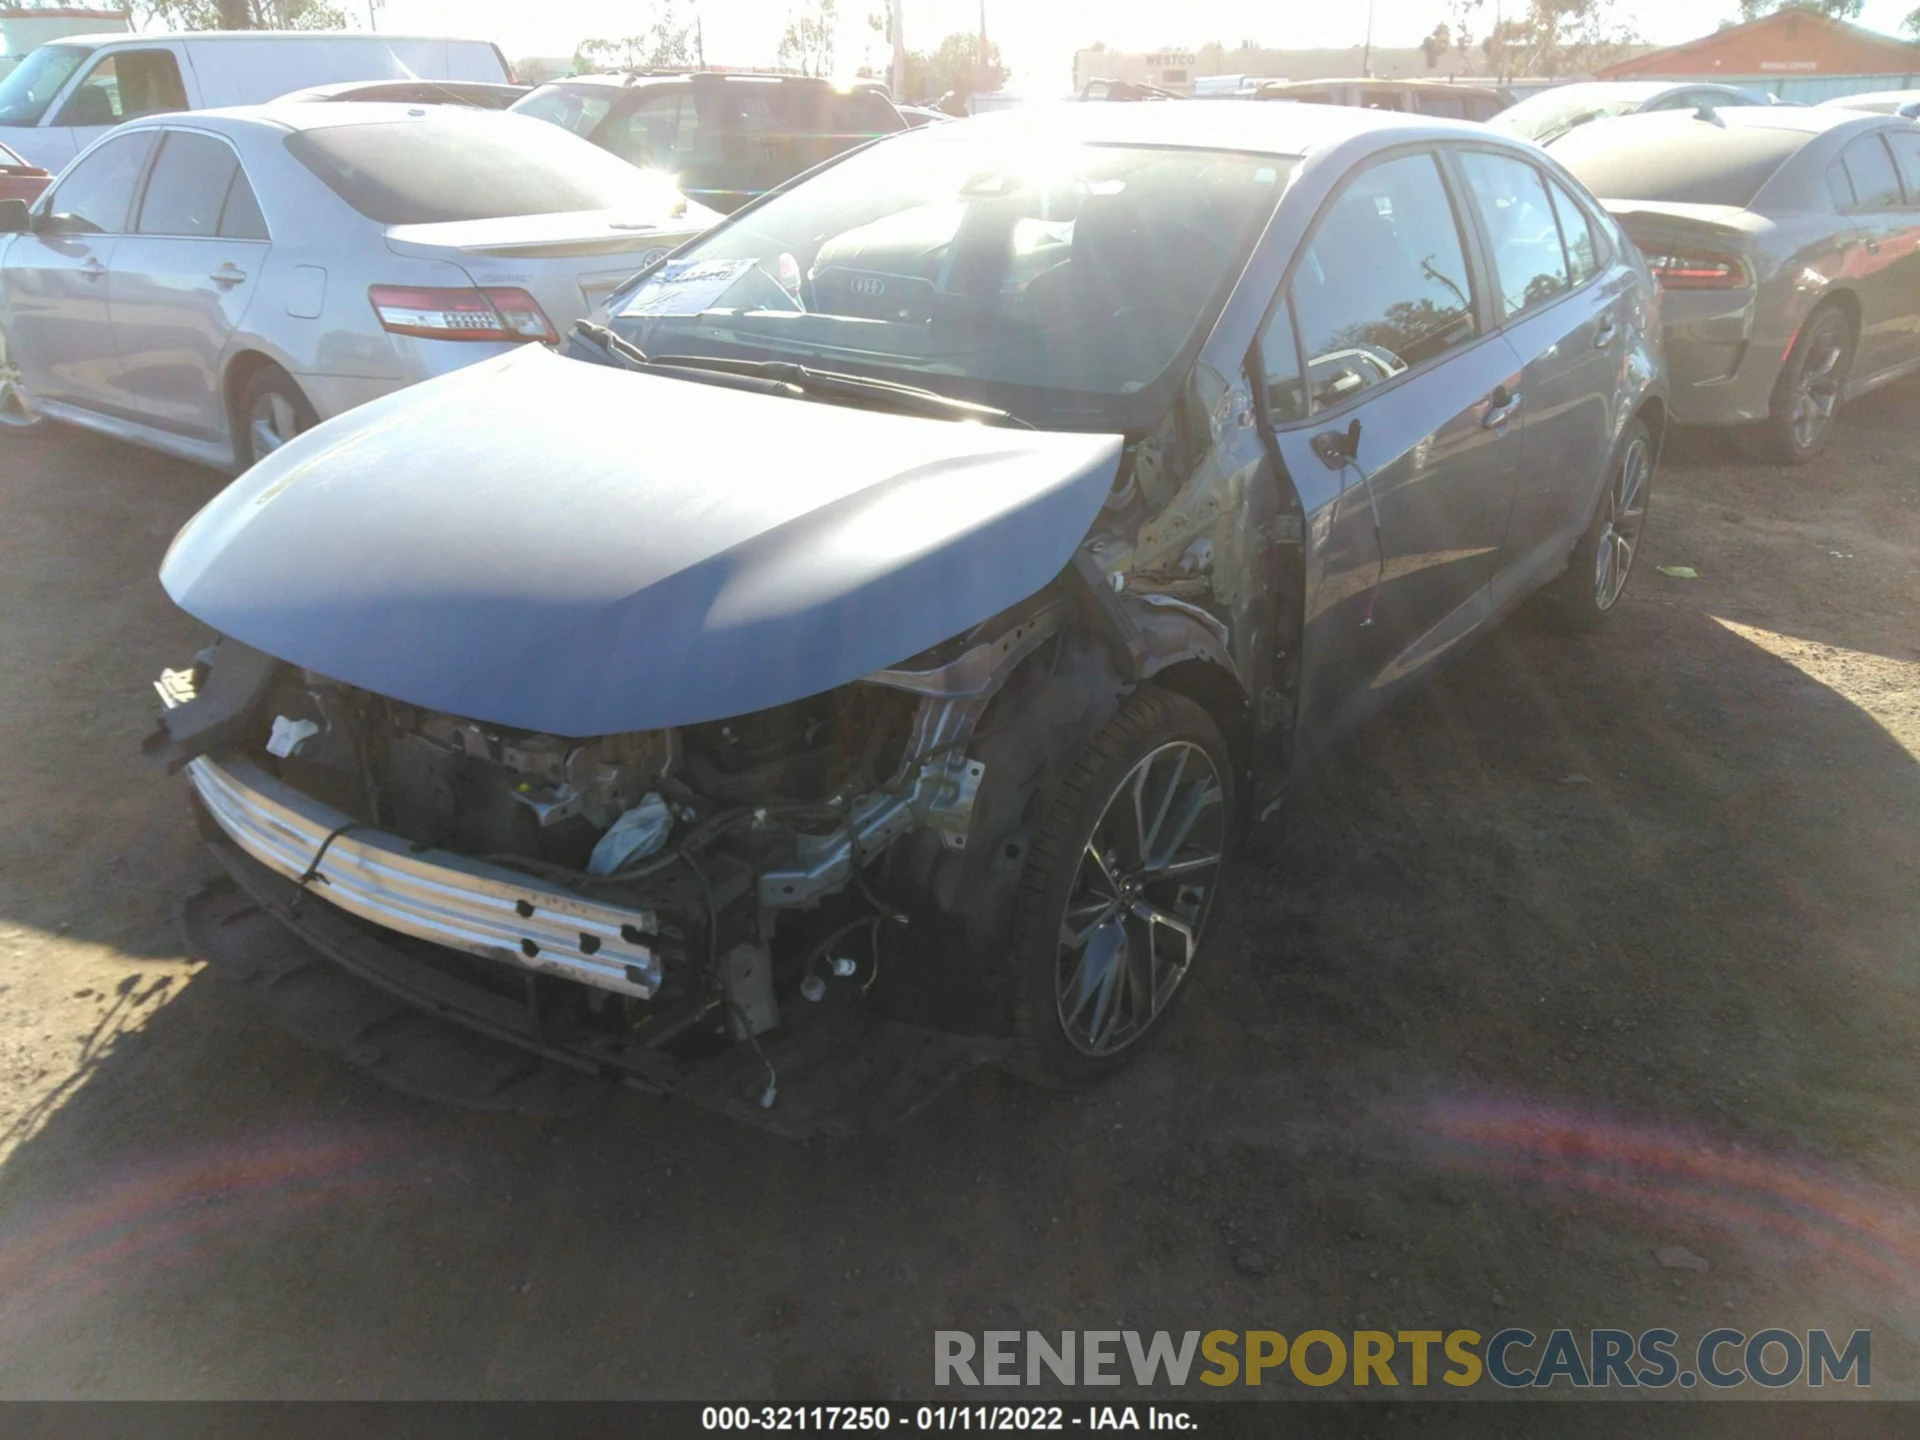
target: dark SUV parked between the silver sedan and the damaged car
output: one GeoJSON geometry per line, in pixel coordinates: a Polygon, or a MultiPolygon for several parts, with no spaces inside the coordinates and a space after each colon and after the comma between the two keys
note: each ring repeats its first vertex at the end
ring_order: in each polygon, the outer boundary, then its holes
{"type": "Polygon", "coordinates": [[[877,90],[797,75],[576,75],[541,84],[513,109],[664,171],[722,213],[852,146],[908,129],[877,90]]]}

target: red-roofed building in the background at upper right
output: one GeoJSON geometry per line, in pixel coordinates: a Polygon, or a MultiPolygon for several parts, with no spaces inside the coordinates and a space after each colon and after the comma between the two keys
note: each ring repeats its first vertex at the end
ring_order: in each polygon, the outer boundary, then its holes
{"type": "Polygon", "coordinates": [[[1920,88],[1920,44],[1809,10],[1778,10],[1701,40],[1599,71],[1603,81],[1720,81],[1814,104],[1862,90],[1920,88]]]}

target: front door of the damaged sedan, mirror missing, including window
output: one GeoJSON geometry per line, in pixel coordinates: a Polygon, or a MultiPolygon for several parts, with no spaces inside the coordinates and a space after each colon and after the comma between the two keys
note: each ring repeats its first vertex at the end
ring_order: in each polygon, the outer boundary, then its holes
{"type": "Polygon", "coordinates": [[[1505,338],[1486,332],[1469,236],[1432,150],[1367,163],[1321,213],[1267,321],[1273,444],[1292,474],[1340,474],[1309,536],[1308,747],[1490,612],[1519,476],[1521,374],[1505,338]],[[1292,419],[1273,378],[1286,326],[1306,376],[1292,419]],[[1338,453],[1348,436],[1354,463],[1338,453]]]}

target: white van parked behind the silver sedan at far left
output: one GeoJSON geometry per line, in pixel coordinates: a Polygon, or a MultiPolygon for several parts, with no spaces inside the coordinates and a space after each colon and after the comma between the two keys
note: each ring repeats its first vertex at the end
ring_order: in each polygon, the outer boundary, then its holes
{"type": "Polygon", "coordinates": [[[259,106],[334,81],[511,81],[499,46],[346,31],[81,35],[33,50],[0,79],[0,144],[60,171],[121,121],[259,106]]]}

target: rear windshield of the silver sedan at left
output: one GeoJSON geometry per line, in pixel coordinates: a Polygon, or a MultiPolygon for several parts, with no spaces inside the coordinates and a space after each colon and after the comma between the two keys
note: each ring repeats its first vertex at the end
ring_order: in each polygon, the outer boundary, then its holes
{"type": "Polygon", "coordinates": [[[286,148],[353,209],[380,225],[492,221],[572,209],[659,211],[660,177],[605,150],[507,115],[442,109],[436,119],[330,125],[286,148]]]}

